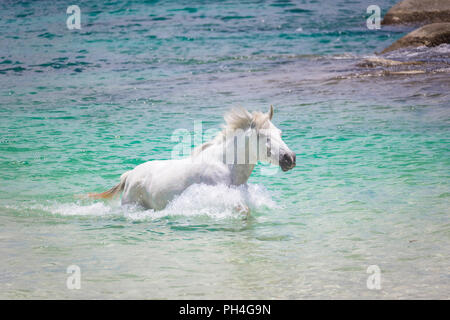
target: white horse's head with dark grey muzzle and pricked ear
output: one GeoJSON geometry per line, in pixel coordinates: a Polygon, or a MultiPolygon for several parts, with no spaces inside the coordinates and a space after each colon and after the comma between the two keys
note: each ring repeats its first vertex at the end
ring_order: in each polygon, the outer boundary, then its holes
{"type": "Polygon", "coordinates": [[[281,170],[288,171],[295,167],[295,152],[293,152],[281,138],[281,130],[272,123],[273,107],[263,114],[266,119],[261,129],[257,130],[260,148],[266,152],[259,152],[259,160],[279,165],[281,170]],[[264,148],[265,147],[265,148],[264,148]]]}

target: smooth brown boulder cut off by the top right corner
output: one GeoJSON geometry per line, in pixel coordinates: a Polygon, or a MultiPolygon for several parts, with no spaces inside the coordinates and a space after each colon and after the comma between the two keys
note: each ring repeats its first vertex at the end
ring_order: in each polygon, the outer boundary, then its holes
{"type": "Polygon", "coordinates": [[[383,24],[450,22],[450,0],[403,0],[384,16],[383,24]]]}

